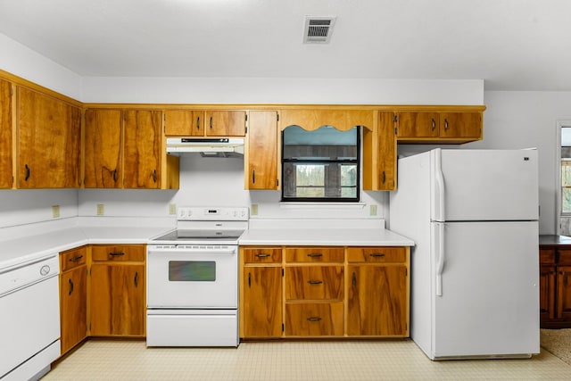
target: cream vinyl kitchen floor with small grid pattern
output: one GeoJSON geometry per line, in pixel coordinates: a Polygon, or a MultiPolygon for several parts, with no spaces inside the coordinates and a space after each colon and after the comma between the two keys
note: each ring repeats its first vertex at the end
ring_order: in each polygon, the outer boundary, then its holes
{"type": "Polygon", "coordinates": [[[242,343],[238,348],[146,348],[89,340],[51,380],[571,380],[542,348],[524,360],[431,361],[410,340],[242,343]]]}

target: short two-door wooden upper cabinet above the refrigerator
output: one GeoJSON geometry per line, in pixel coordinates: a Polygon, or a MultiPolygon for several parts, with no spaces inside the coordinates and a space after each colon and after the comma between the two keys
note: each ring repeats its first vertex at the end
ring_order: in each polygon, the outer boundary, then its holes
{"type": "Polygon", "coordinates": [[[398,112],[402,143],[461,144],[482,139],[482,112],[398,112]]]}

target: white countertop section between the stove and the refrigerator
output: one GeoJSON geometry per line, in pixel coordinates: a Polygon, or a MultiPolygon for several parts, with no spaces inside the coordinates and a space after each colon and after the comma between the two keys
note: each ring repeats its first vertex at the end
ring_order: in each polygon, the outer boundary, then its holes
{"type": "Polygon", "coordinates": [[[414,242],[385,228],[257,228],[239,239],[246,245],[414,246],[414,242]]]}

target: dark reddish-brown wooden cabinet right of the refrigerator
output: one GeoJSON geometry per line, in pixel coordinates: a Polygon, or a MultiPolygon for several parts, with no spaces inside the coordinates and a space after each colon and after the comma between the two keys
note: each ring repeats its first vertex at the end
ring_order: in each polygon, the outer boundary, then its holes
{"type": "Polygon", "coordinates": [[[571,328],[571,240],[540,244],[542,328],[571,328]]]}

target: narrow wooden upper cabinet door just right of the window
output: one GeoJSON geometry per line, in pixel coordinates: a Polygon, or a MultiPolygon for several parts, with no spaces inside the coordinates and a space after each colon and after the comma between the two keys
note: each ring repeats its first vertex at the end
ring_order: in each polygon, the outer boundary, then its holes
{"type": "Polygon", "coordinates": [[[396,137],[394,135],[394,113],[379,112],[379,190],[396,189],[396,137]]]}

